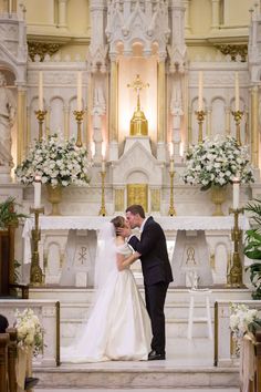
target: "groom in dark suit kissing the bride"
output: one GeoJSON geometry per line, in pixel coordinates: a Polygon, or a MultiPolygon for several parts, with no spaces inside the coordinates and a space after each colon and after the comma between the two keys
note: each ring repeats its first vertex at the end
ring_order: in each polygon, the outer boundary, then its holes
{"type": "Polygon", "coordinates": [[[173,281],[165,234],[153,217],[145,217],[140,205],[129,206],[126,209],[126,219],[130,227],[121,229],[119,234],[128,237],[128,244],[142,255],[145,301],[153,329],[148,360],[165,360],[164,303],[168,285],[173,281]],[[140,230],[140,239],[132,235],[130,229],[135,227],[140,230]]]}

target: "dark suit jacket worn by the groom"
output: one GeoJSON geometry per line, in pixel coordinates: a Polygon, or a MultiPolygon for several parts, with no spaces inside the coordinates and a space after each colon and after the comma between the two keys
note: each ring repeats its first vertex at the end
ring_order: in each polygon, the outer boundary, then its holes
{"type": "Polygon", "coordinates": [[[171,267],[168,259],[166,237],[163,228],[153,217],[149,217],[144,226],[140,240],[133,236],[128,244],[140,256],[145,285],[155,285],[160,281],[173,281],[171,267]]]}

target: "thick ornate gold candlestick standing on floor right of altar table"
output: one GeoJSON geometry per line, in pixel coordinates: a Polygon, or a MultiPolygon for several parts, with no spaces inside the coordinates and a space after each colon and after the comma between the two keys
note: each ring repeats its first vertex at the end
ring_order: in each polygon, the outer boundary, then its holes
{"type": "Polygon", "coordinates": [[[231,238],[233,241],[233,252],[231,259],[231,268],[228,271],[227,287],[242,288],[244,287],[242,280],[242,262],[240,259],[240,244],[242,244],[242,230],[239,228],[239,214],[243,214],[243,208],[229,208],[229,214],[234,216],[234,225],[231,230],[231,238]]]}

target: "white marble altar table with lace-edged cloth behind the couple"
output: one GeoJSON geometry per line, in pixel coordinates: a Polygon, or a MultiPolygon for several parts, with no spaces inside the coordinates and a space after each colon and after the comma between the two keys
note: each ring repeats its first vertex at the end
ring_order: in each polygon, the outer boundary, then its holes
{"type": "MultiPolygon", "coordinates": [[[[39,252],[45,282],[92,287],[96,230],[111,219],[108,216],[41,216],[39,252]]],[[[190,286],[188,280],[190,271],[197,271],[199,286],[226,282],[227,262],[232,248],[230,238],[232,216],[178,216],[155,219],[166,234],[175,276],[174,285],[190,286]]],[[[243,230],[249,228],[246,216],[240,216],[239,224],[243,230]]],[[[31,262],[32,227],[33,218],[27,219],[23,228],[23,265],[31,262]]],[[[134,272],[142,283],[139,261],[134,265],[134,272]]],[[[24,278],[27,280],[27,277],[24,278]]]]}

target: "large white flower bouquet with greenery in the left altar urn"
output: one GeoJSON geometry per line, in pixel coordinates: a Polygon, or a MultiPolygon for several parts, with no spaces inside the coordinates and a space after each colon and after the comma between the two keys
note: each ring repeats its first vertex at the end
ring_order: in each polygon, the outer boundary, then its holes
{"type": "Polygon", "coordinates": [[[36,141],[14,173],[22,184],[31,184],[35,175],[40,175],[43,184],[56,187],[86,185],[90,167],[85,147],[77,147],[74,138],[64,141],[54,134],[36,141]]]}

